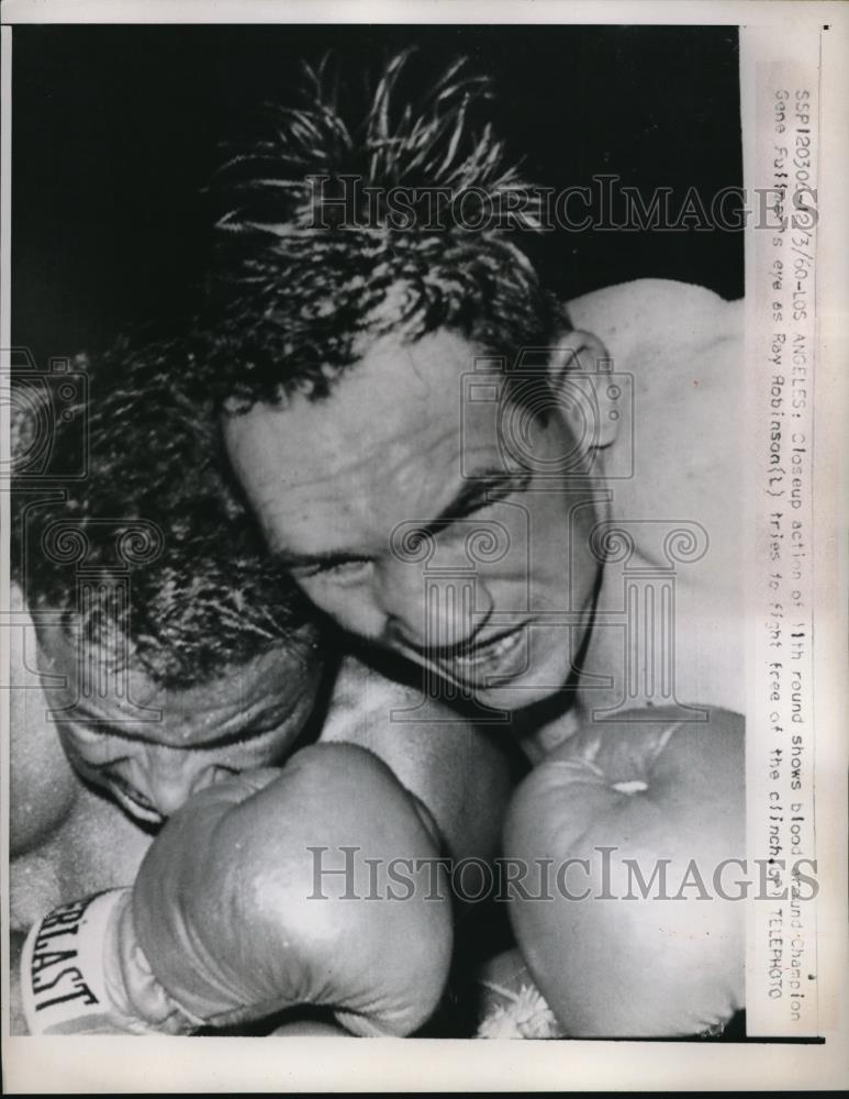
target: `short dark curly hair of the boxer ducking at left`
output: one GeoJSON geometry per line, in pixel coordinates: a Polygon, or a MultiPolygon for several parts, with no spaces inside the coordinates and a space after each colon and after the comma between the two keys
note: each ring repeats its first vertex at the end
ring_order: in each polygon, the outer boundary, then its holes
{"type": "MultiPolygon", "coordinates": [[[[35,493],[21,478],[12,493],[12,575],[36,623],[63,612],[68,634],[81,631],[112,666],[132,656],[167,688],[281,642],[306,659],[316,639],[230,487],[211,406],[181,392],[191,358],[177,341],[127,340],[79,357],[88,396],[56,420],[52,468],[77,468],[82,425],[86,476],[35,493]]],[[[13,424],[13,447],[26,431],[13,424]]]]}

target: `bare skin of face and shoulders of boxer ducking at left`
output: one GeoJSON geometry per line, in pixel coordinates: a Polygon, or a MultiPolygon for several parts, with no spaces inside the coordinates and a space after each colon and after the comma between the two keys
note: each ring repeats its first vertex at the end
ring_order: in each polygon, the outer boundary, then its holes
{"type": "MultiPolygon", "coordinates": [[[[11,925],[25,931],[57,904],[135,879],[158,817],[167,815],[165,809],[177,808],[179,793],[168,778],[167,764],[180,779],[177,788],[183,791],[182,800],[216,777],[282,764],[299,740],[311,706],[302,707],[304,712],[295,713],[292,721],[287,707],[298,692],[281,689],[276,699],[273,681],[262,664],[261,675],[234,677],[230,690],[216,691],[216,704],[205,710],[198,688],[192,709],[186,701],[189,692],[164,697],[149,681],[138,680],[136,700],[165,702],[166,720],[153,726],[158,739],[143,724],[125,725],[124,733],[132,735],[123,737],[98,733],[99,726],[85,723],[68,728],[66,722],[63,729],[63,722],[51,721],[47,711],[67,704],[67,692],[54,686],[59,681],[55,667],[53,678],[40,685],[35,669],[41,667],[44,675],[51,662],[38,653],[35,629],[14,588],[13,609],[18,626],[12,685],[20,689],[11,692],[11,925]],[[256,691],[256,687],[264,689],[256,691]],[[256,704],[243,708],[252,697],[256,704]],[[230,724],[228,698],[236,700],[230,724]],[[210,712],[234,734],[241,722],[246,739],[198,747],[197,740],[209,740],[215,731],[206,720],[210,712]],[[245,714],[270,724],[270,732],[252,737],[245,714]],[[188,744],[182,743],[186,740],[188,744]],[[127,793],[131,786],[132,796],[127,793]]],[[[308,693],[312,703],[313,689],[308,693]]],[[[448,711],[433,703],[414,710],[421,702],[421,695],[348,657],[333,685],[323,725],[311,735],[358,744],[380,756],[429,811],[451,854],[492,857],[512,787],[506,757],[494,737],[458,722],[448,711]],[[394,711],[401,711],[396,719],[409,718],[407,711],[413,711],[417,720],[392,720],[394,711]]]]}

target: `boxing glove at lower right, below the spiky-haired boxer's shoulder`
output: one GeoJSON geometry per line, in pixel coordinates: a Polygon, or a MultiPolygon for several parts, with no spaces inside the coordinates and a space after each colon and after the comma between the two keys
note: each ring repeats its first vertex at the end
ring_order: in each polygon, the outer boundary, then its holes
{"type": "Polygon", "coordinates": [[[744,720],[627,717],[585,726],[516,791],[505,854],[528,880],[511,921],[567,1034],[717,1033],[745,999],[744,720]]]}

